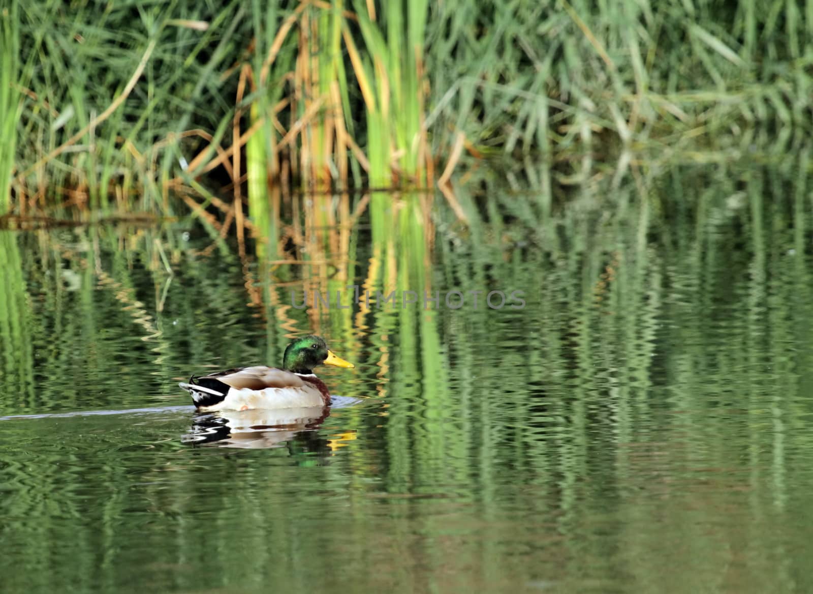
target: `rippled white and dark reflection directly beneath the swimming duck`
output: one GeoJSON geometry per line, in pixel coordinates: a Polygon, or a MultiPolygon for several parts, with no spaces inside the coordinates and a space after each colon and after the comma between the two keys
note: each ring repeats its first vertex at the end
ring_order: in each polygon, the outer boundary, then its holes
{"type": "Polygon", "coordinates": [[[328,406],[196,413],[192,427],[181,441],[245,449],[280,448],[297,443],[298,451],[304,447],[307,452],[328,453],[328,440],[320,439],[317,429],[329,415],[328,406]]]}

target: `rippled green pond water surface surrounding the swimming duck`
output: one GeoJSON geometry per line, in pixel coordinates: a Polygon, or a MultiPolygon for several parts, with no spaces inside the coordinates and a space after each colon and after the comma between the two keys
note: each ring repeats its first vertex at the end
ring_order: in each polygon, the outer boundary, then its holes
{"type": "Polygon", "coordinates": [[[461,193],[428,267],[356,229],[347,282],[521,309],[299,310],[307,267],[182,221],[0,233],[0,591],[813,592],[803,178],[461,193]],[[311,331],[357,365],[328,417],[176,387],[311,331]]]}

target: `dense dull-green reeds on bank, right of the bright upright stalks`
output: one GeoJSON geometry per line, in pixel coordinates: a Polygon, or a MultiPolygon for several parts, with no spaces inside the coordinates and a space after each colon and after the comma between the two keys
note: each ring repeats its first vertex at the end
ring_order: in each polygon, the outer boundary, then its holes
{"type": "MultiPolygon", "coordinates": [[[[455,130],[483,151],[549,155],[803,138],[809,18],[798,3],[754,6],[562,0],[472,16],[461,0],[433,4],[427,72],[439,100],[428,120],[450,124],[433,126],[433,150],[455,130]]],[[[591,174],[570,163],[568,174],[591,174]]]]}

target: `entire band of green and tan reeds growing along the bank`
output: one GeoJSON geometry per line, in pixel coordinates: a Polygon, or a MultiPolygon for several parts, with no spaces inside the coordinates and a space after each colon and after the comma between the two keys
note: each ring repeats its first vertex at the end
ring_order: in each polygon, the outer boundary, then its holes
{"type": "MultiPolygon", "coordinates": [[[[544,163],[550,195],[641,155],[790,150],[813,121],[813,2],[37,0],[0,15],[0,212],[191,209],[241,246],[283,241],[297,191],[441,181],[465,220],[446,183],[461,162],[544,163]]],[[[390,202],[315,197],[309,216],[370,207],[383,237],[390,202]]]]}

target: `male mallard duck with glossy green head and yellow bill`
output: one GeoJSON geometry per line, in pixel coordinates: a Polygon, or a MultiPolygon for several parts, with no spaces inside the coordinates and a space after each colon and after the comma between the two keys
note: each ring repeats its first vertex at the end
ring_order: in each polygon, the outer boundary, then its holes
{"type": "Polygon", "coordinates": [[[178,384],[192,396],[198,410],[249,410],[329,406],[330,392],[315,376],[316,365],[355,365],[328,350],[319,336],[297,338],[285,348],[282,369],[256,365],[228,369],[178,384]]]}

